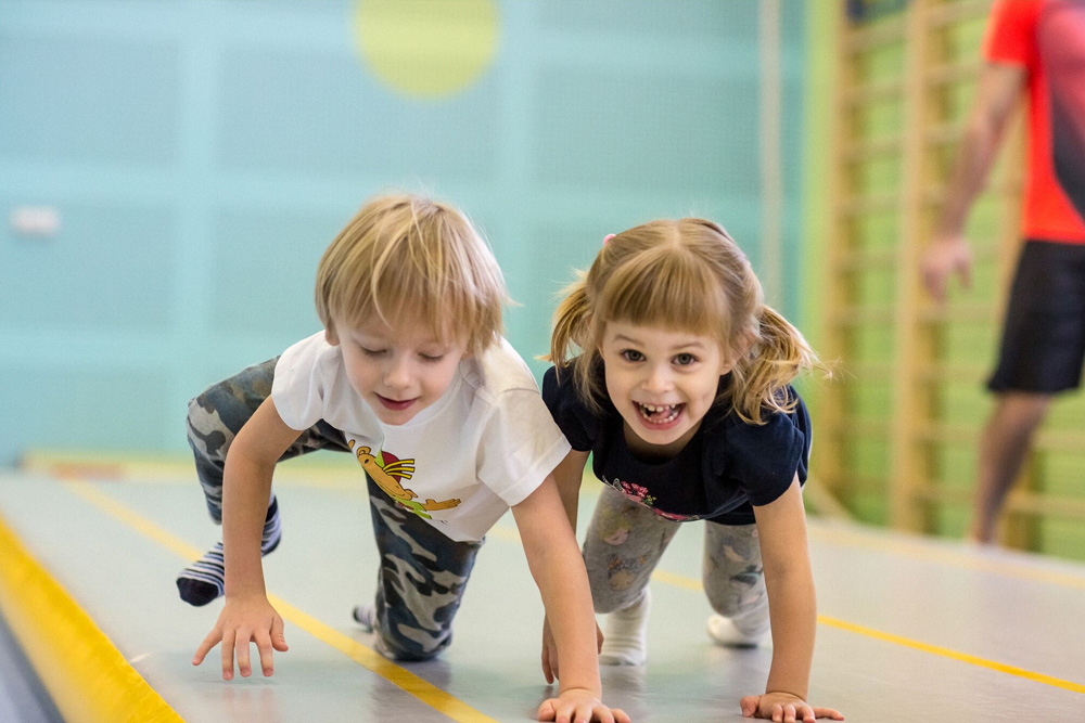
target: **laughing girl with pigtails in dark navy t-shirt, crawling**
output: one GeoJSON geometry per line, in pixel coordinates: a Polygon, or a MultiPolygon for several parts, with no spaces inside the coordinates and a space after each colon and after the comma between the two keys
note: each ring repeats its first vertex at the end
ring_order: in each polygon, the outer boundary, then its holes
{"type": "Polygon", "coordinates": [[[596,611],[610,614],[600,661],[644,662],[652,569],[681,522],[703,519],[710,636],[749,647],[773,632],[768,684],[742,714],[843,720],[806,702],[810,424],[789,384],[817,364],[805,339],[762,302],[727,232],[701,219],[608,236],[566,291],[542,396],[573,447],[556,477],[574,529],[589,453],[607,485],[584,543],[596,611]]]}

